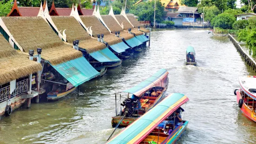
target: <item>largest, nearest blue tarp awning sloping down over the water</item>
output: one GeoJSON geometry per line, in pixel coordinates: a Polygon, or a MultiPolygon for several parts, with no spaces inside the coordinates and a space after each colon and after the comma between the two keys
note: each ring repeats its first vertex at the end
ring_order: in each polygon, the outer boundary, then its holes
{"type": "Polygon", "coordinates": [[[81,85],[99,75],[99,72],[84,57],[52,66],[74,86],[81,85]]]}

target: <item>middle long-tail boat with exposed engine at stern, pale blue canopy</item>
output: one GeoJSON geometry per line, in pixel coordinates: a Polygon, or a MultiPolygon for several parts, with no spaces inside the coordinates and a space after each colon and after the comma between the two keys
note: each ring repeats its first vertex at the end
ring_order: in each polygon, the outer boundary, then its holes
{"type": "Polygon", "coordinates": [[[118,124],[118,127],[126,127],[142,116],[146,111],[149,111],[164,98],[168,88],[168,81],[168,71],[160,69],[150,78],[123,91],[128,92],[128,97],[121,103],[123,110],[121,108],[119,114],[116,110],[116,116],[112,117],[112,127],[116,127],[118,124]],[[129,94],[133,96],[129,98],[129,94]],[[140,106],[141,109],[139,109],[140,106]],[[123,116],[125,117],[123,118],[123,116]],[[120,121],[121,119],[122,121],[120,121]]]}

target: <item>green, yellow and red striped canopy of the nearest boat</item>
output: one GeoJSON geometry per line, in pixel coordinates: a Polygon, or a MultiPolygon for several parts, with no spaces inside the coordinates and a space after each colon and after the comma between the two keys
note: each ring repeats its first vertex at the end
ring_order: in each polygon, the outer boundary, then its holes
{"type": "Polygon", "coordinates": [[[108,141],[107,144],[140,144],[158,124],[188,101],[189,98],[184,96],[184,94],[169,94],[158,105],[153,107],[151,111],[146,112],[126,127],[125,130],[108,141]]]}

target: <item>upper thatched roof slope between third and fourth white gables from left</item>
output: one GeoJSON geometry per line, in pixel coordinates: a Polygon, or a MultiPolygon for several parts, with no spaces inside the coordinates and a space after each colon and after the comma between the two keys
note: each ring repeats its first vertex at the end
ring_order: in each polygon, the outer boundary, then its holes
{"type": "Polygon", "coordinates": [[[105,24],[108,26],[112,33],[115,33],[116,31],[124,31],[111,15],[101,15],[101,18],[104,20],[105,24]]]}

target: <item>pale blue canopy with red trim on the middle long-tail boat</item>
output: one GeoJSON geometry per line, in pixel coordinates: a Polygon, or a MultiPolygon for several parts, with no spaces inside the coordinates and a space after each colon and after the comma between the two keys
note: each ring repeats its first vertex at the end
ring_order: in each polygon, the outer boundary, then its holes
{"type": "Polygon", "coordinates": [[[168,71],[165,69],[160,69],[150,78],[144,80],[138,85],[135,85],[123,92],[129,92],[139,97],[141,94],[143,94],[144,92],[146,92],[147,90],[149,90],[154,86],[165,87],[165,85],[167,84],[167,81],[168,81],[168,71]]]}

